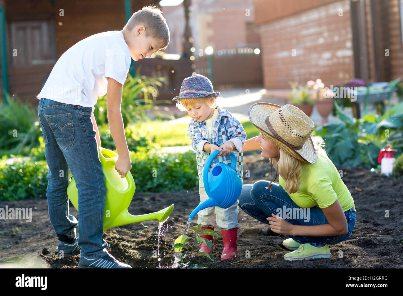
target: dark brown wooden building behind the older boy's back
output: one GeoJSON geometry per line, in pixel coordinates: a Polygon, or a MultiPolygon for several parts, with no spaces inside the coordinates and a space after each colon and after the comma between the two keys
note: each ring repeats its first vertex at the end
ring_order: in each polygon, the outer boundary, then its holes
{"type": "MultiPolygon", "coordinates": [[[[0,97],[3,92],[2,73],[7,72],[8,92],[18,95],[23,101],[37,103],[36,95],[58,58],[67,49],[90,35],[123,29],[133,12],[150,4],[158,6],[158,2],[159,0],[0,0],[5,20],[4,26],[0,24],[0,29],[4,29],[6,36],[6,45],[0,38],[2,48],[6,47],[5,59],[0,52],[0,97]]],[[[179,75],[179,85],[183,77],[191,74],[189,60],[182,63],[178,60],[153,58],[136,62],[135,65],[143,65],[143,75],[167,76],[168,71],[174,71],[175,75],[179,75]],[[179,68],[177,71],[176,66],[179,68]]],[[[169,91],[170,97],[173,87],[169,85],[168,88],[165,92],[169,91]]]]}

